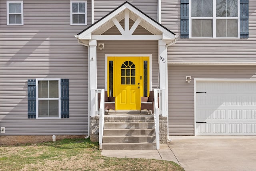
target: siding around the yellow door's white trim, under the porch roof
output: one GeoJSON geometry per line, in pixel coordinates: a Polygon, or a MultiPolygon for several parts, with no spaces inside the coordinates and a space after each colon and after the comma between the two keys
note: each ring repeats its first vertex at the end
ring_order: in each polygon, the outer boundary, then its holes
{"type": "Polygon", "coordinates": [[[97,50],[97,84],[104,88],[105,54],[152,54],[152,88],[158,84],[158,41],[98,41],[104,43],[103,50],[97,50]]]}

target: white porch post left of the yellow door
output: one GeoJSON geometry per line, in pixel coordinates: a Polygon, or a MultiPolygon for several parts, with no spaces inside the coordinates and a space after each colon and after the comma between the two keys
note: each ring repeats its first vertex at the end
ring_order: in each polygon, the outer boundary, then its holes
{"type": "MultiPolygon", "coordinates": [[[[97,59],[96,59],[96,50],[97,50],[97,40],[90,40],[89,41],[89,47],[90,47],[90,91],[92,89],[97,89],[97,59]]],[[[92,92],[92,91],[91,91],[92,92]]],[[[91,93],[91,98],[90,98],[90,116],[96,116],[98,115],[97,113],[97,104],[96,102],[96,94],[91,93]]]]}

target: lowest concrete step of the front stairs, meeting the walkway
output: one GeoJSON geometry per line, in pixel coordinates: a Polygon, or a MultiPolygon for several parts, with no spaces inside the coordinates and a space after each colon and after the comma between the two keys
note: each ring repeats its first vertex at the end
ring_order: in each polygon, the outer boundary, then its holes
{"type": "Polygon", "coordinates": [[[155,150],[155,143],[102,143],[102,150],[155,150]]]}

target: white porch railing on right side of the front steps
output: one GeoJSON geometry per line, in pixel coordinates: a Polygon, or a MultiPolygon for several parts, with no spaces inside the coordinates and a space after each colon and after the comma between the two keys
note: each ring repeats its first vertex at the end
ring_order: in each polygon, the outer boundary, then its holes
{"type": "Polygon", "coordinates": [[[162,115],[165,104],[165,90],[154,89],[154,122],[156,130],[156,149],[160,149],[160,130],[159,130],[159,116],[162,115]]]}

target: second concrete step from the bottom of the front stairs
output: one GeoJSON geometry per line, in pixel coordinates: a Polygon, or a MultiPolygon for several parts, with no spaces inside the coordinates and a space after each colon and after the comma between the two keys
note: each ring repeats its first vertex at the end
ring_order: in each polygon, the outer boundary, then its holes
{"type": "Polygon", "coordinates": [[[150,135],[103,135],[103,143],[156,143],[156,137],[150,135]]]}

